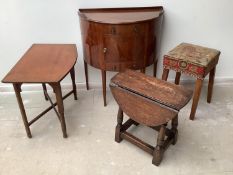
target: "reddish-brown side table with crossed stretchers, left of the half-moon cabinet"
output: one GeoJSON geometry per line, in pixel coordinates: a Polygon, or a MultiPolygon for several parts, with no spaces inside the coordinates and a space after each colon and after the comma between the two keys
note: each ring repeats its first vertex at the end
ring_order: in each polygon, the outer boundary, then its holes
{"type": "Polygon", "coordinates": [[[23,123],[29,138],[32,137],[29,128],[30,125],[51,109],[55,110],[58,119],[61,122],[63,137],[67,137],[63,99],[73,93],[74,99],[77,100],[74,71],[76,59],[77,49],[75,44],[33,44],[2,80],[3,83],[12,83],[14,86],[23,123]],[[68,73],[71,75],[73,90],[62,97],[60,82],[68,73]],[[27,120],[26,111],[20,94],[21,85],[23,83],[41,83],[45,99],[49,100],[51,103],[50,107],[31,121],[27,120]],[[53,103],[50,99],[47,93],[46,84],[53,88],[57,99],[56,103],[53,103]],[[58,111],[55,106],[58,106],[58,111]]]}

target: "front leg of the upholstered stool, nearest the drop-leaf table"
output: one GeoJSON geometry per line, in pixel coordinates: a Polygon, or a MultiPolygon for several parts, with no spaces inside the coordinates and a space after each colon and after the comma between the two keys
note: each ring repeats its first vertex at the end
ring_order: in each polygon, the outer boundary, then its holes
{"type": "Polygon", "coordinates": [[[202,83],[203,83],[203,80],[197,79],[195,90],[194,90],[194,95],[193,95],[193,104],[192,104],[191,114],[189,117],[190,120],[194,120],[195,118],[195,113],[197,110],[197,105],[198,105],[198,101],[199,101],[200,94],[201,94],[202,83]]]}

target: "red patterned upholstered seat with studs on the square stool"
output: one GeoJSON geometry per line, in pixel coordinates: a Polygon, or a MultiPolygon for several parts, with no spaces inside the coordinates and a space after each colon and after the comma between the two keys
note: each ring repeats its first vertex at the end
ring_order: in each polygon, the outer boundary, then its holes
{"type": "Polygon", "coordinates": [[[165,69],[204,79],[218,63],[219,55],[220,51],[215,49],[181,43],[164,55],[163,66],[165,69]]]}

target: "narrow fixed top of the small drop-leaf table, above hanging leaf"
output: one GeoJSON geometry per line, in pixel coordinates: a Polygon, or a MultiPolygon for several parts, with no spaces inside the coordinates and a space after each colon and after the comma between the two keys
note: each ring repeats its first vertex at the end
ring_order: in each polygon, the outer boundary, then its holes
{"type": "Polygon", "coordinates": [[[183,86],[132,70],[118,73],[111,79],[111,83],[177,111],[192,97],[192,91],[183,86]]]}

